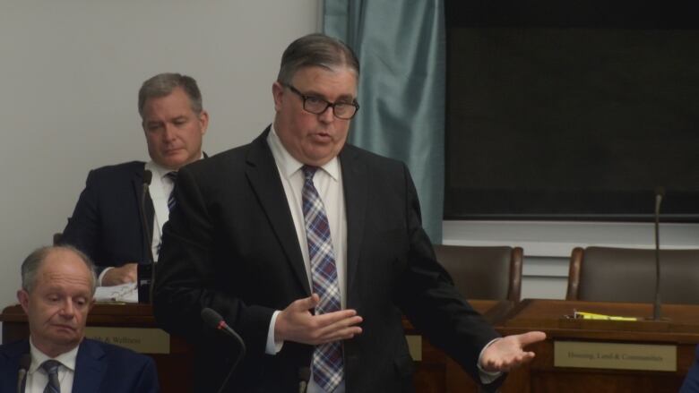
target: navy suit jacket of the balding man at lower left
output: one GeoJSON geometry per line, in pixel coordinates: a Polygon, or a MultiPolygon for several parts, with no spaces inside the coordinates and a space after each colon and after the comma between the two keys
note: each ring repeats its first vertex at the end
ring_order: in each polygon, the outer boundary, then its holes
{"type": "MultiPolygon", "coordinates": [[[[17,391],[20,358],[29,354],[29,340],[0,346],[0,392],[17,391]]],[[[84,339],[75,360],[73,393],[156,393],[155,363],[146,355],[84,339]]]]}

